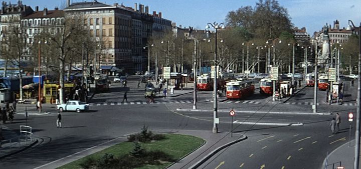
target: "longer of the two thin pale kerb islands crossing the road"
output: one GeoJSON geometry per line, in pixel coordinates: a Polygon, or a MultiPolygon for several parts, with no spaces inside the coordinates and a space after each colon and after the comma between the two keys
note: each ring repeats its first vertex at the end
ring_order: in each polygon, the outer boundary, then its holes
{"type": "MultiPolygon", "coordinates": [[[[309,113],[309,112],[282,112],[282,111],[242,111],[242,110],[236,110],[236,112],[239,113],[269,113],[269,114],[306,114],[306,115],[330,115],[332,113],[309,113]]],[[[206,110],[206,109],[182,109],[177,108],[176,111],[193,111],[193,112],[213,112],[214,110],[206,110]]],[[[229,110],[218,110],[218,112],[222,113],[228,113],[229,110]]]]}

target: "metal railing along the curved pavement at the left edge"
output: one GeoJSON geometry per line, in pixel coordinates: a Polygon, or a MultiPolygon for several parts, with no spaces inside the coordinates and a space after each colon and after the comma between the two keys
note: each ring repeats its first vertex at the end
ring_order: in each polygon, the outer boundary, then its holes
{"type": "Polygon", "coordinates": [[[20,126],[20,135],[0,141],[0,148],[11,148],[15,146],[26,145],[28,141],[33,141],[33,128],[26,125],[20,126]],[[25,144],[24,144],[25,142],[25,144]]]}

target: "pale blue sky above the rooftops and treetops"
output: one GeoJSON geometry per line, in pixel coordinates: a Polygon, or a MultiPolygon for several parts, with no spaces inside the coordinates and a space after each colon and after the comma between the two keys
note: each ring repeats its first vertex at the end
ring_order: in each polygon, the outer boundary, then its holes
{"type": "MultiPolygon", "coordinates": [[[[17,1],[11,2],[15,4],[17,1]]],[[[84,0],[71,0],[71,2],[84,2],[84,0]]],[[[242,6],[254,7],[258,0],[98,0],[98,2],[109,5],[123,3],[128,7],[134,7],[134,3],[141,3],[149,6],[150,13],[162,12],[163,18],[175,22],[177,26],[204,29],[207,23],[224,22],[229,11],[242,6]]],[[[340,21],[341,28],[347,27],[348,20],[352,20],[355,26],[361,22],[359,0],[279,0],[278,2],[288,9],[294,26],[306,27],[310,35],[321,30],[326,23],[333,24],[335,20],[340,21]]],[[[39,6],[39,10],[54,9],[54,7],[61,8],[65,0],[23,0],[23,4],[30,5],[33,9],[39,6]]]]}

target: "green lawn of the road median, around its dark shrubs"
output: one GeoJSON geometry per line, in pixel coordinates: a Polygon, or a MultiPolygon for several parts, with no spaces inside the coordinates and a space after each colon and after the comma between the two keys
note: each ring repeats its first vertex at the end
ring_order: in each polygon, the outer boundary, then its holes
{"type": "MultiPolygon", "coordinates": [[[[183,135],[183,134],[164,134],[165,139],[158,141],[151,141],[140,143],[141,147],[146,151],[160,150],[171,156],[172,159],[177,160],[186,154],[192,152],[199,146],[205,143],[205,140],[199,137],[183,135]]],[[[66,165],[58,167],[58,169],[79,169],[81,163],[84,163],[89,158],[100,159],[104,154],[113,154],[115,157],[120,157],[129,154],[134,148],[133,142],[121,142],[114,146],[108,147],[99,152],[90,154],[86,157],[70,162],[66,165]]],[[[145,164],[136,169],[158,169],[164,168],[171,164],[170,161],[162,161],[160,164],[145,164]]]]}

